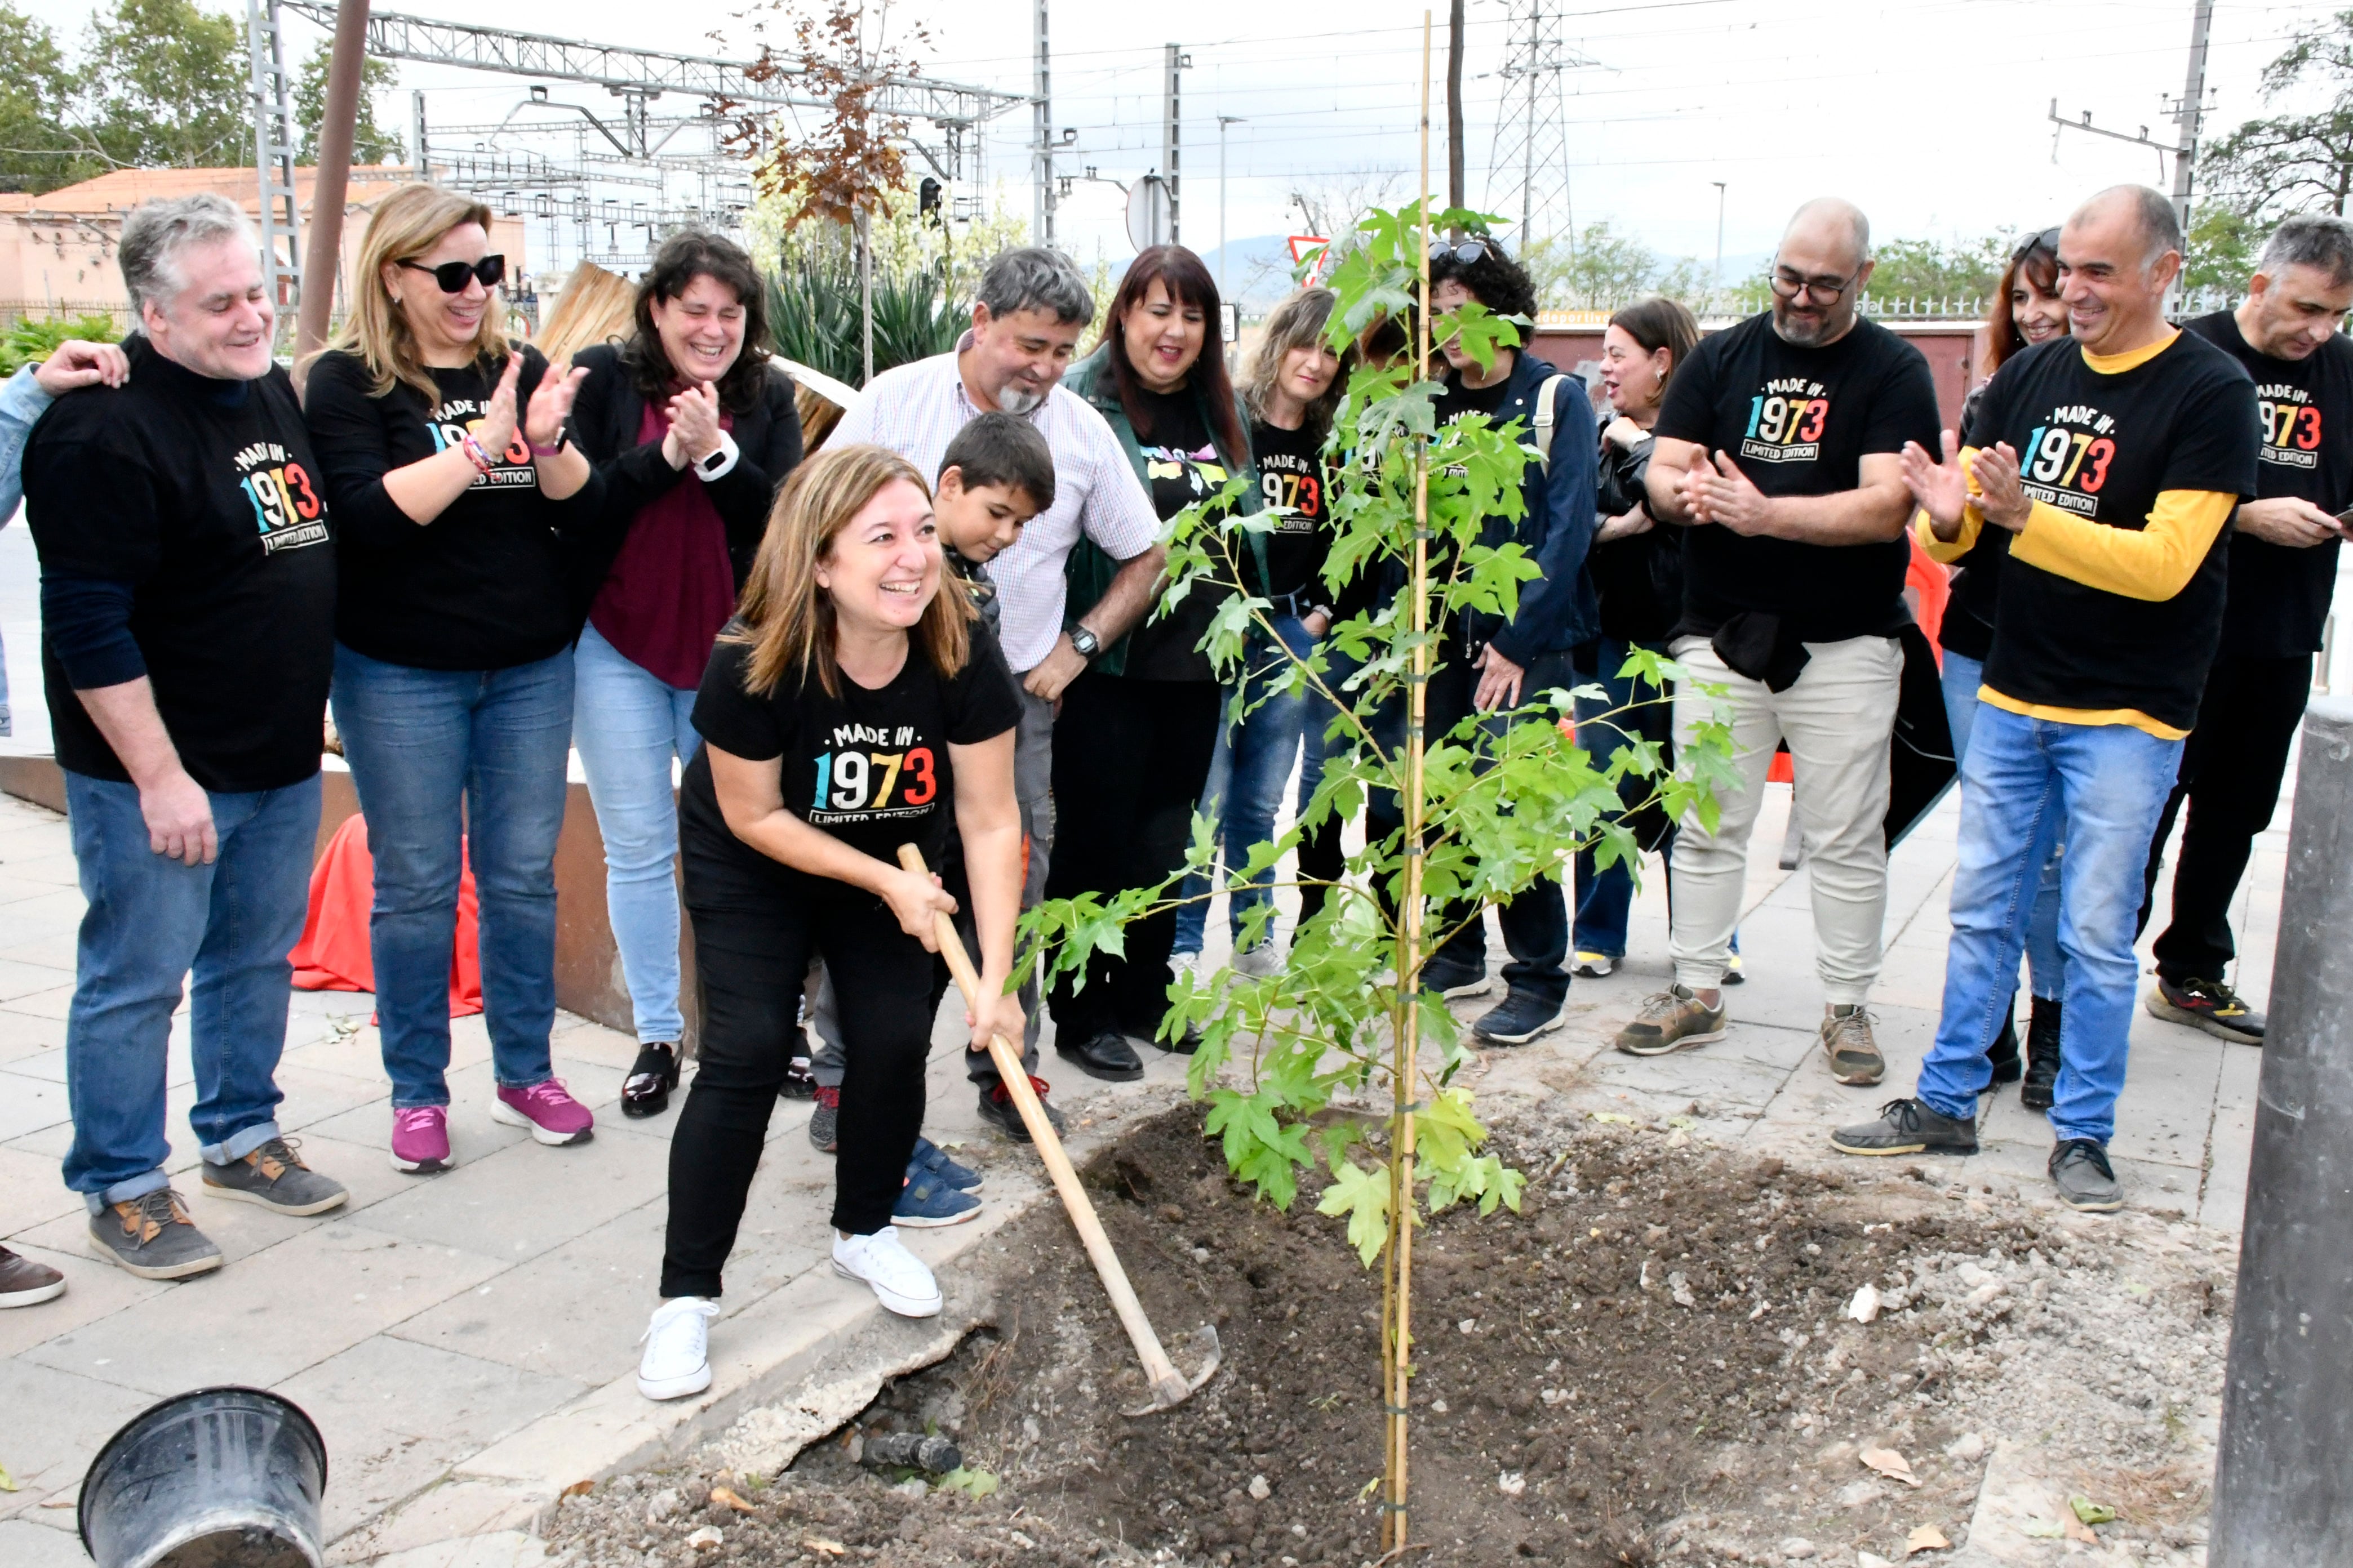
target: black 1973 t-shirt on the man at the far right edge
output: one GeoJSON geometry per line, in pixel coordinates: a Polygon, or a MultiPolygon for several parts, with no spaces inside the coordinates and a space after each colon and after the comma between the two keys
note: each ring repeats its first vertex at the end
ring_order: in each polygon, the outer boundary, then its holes
{"type": "MultiPolygon", "coordinates": [[[[2254,376],[2254,494],[2301,496],[2322,512],[2353,503],[2353,341],[2332,336],[2304,360],[2247,346],[2228,310],[2188,324],[2254,376]]],[[[2320,651],[2337,592],[2337,543],[2311,550],[2231,531],[2231,595],[2221,611],[2221,658],[2292,658],[2320,651]]]]}

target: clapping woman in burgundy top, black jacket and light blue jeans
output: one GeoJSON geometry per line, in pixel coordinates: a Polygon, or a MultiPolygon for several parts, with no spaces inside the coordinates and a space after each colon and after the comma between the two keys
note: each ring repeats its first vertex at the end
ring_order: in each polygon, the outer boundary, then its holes
{"type": "Polygon", "coordinates": [[[678,806],[694,691],[734,611],[776,491],[800,465],[793,378],[767,353],[767,284],[741,244],[661,242],[633,329],[581,350],[574,423],[619,538],[584,571],[572,741],[605,837],[605,910],[638,1025],[621,1114],[678,1088],[678,806]]]}

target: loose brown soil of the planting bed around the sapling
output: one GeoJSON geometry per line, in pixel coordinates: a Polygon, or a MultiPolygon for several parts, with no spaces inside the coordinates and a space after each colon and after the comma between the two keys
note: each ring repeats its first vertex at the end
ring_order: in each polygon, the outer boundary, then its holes
{"type": "MultiPolygon", "coordinates": [[[[2101,1542],[2202,1556],[2228,1324],[2202,1232],[2035,1211],[1937,1164],[1753,1161],[1567,1107],[1494,1131],[1529,1175],[1525,1213],[1442,1213],[1414,1246],[1405,1561],[1901,1559],[1920,1526],[1967,1540],[2005,1436],[2118,1507],[2101,1542]],[[1845,1316],[1864,1284],[1871,1324],[1845,1316]],[[1873,1448],[1918,1486],[1866,1467],[1873,1448]]],[[[967,1265],[995,1272],[998,1314],[948,1361],[779,1476],[713,1448],[569,1497],[553,1547],[579,1568],[1379,1559],[1379,1272],[1313,1213],[1315,1182],[1292,1213],[1249,1201],[1195,1107],[1085,1175],[1162,1335],[1219,1326],[1224,1371],[1188,1403],[1120,1413],[1144,1401],[1132,1349],[1045,1206],[967,1265]],[[998,1490],[859,1465],[880,1432],[948,1434],[998,1490]]]]}

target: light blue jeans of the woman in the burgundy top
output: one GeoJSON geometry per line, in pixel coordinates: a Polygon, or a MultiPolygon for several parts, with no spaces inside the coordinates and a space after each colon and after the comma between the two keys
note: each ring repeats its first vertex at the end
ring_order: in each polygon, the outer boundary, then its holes
{"type": "Polygon", "coordinates": [[[678,790],[671,759],[694,762],[694,689],[631,663],[591,625],[574,649],[572,745],[605,835],[605,912],[621,950],[638,1041],[678,1041],[678,790]]]}

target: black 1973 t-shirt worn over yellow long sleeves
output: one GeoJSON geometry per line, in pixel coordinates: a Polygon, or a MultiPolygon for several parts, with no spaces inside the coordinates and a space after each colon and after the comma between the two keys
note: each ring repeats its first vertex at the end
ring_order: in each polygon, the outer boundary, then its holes
{"type": "MultiPolygon", "coordinates": [[[[2254,494],[2254,383],[2191,331],[2113,376],[2085,364],[2075,339],[2052,339],[1995,371],[1962,440],[2009,442],[2035,501],[2139,531],[2167,489],[2254,494]]],[[[2012,550],[1986,686],[2021,703],[2132,710],[2191,729],[2221,637],[2226,536],[2160,602],[2078,583],[2012,550]]]]}

